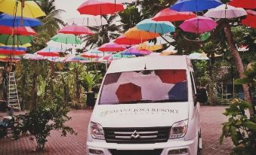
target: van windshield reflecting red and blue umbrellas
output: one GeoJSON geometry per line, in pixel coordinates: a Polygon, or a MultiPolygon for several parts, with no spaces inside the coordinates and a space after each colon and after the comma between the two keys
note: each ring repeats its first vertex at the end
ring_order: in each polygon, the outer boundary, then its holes
{"type": "Polygon", "coordinates": [[[186,70],[106,74],[99,105],[152,102],[187,102],[186,70]]]}

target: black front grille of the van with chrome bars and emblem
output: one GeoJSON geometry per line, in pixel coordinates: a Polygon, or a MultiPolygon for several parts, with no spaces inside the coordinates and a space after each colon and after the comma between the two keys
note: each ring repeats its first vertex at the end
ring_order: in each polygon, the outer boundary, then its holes
{"type": "Polygon", "coordinates": [[[171,127],[103,128],[106,142],[118,144],[150,144],[168,141],[171,127]]]}

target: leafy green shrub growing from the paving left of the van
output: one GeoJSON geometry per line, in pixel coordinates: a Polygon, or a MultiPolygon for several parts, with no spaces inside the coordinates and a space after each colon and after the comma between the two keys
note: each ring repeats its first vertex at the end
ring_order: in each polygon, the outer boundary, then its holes
{"type": "Polygon", "coordinates": [[[34,135],[36,150],[43,150],[52,130],[61,130],[62,136],[66,136],[67,132],[76,134],[71,127],[64,125],[71,119],[66,115],[68,111],[68,108],[61,108],[58,102],[52,103],[51,106],[48,103],[41,103],[39,108],[17,116],[15,129],[34,135]]]}

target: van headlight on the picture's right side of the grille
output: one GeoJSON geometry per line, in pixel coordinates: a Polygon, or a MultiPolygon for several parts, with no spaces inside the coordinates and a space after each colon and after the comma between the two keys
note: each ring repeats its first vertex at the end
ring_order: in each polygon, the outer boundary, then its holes
{"type": "Polygon", "coordinates": [[[171,126],[169,138],[181,138],[186,135],[187,132],[187,120],[176,122],[171,126]]]}

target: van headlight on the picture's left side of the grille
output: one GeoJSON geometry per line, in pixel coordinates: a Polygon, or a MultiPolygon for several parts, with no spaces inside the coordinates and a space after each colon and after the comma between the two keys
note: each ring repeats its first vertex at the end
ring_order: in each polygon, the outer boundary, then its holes
{"type": "Polygon", "coordinates": [[[101,140],[105,139],[104,132],[103,132],[103,127],[99,123],[91,122],[90,128],[91,128],[92,138],[101,139],[101,140]]]}

